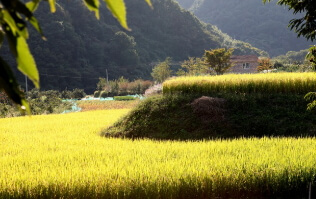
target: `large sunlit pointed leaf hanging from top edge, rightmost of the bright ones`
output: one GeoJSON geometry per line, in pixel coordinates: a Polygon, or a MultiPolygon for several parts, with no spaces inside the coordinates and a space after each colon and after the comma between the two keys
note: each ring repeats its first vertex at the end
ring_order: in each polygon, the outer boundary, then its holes
{"type": "Polygon", "coordinates": [[[113,16],[117,18],[121,26],[127,30],[130,30],[126,21],[126,7],[124,0],[104,0],[108,9],[113,16]]]}

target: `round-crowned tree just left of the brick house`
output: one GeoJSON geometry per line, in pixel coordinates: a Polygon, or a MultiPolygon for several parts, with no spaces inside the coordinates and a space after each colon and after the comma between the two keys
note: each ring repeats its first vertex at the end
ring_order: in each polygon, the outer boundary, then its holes
{"type": "Polygon", "coordinates": [[[222,75],[228,71],[233,64],[230,62],[230,56],[234,49],[218,48],[214,50],[206,50],[204,53],[205,62],[215,71],[217,75],[222,75]]]}

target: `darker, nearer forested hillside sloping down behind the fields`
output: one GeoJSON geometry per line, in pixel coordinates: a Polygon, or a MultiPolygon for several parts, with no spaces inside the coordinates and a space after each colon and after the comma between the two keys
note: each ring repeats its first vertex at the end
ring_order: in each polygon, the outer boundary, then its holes
{"type": "MultiPolygon", "coordinates": [[[[172,0],[127,1],[128,23],[132,31],[120,27],[105,5],[100,20],[81,0],[57,1],[51,14],[42,3],[35,12],[47,38],[31,31],[29,44],[37,62],[42,89],[84,88],[95,90],[99,77],[150,78],[152,62],[171,57],[182,61],[202,56],[204,50],[234,47],[235,54],[264,54],[250,44],[233,40],[216,27],[200,22],[172,0]]],[[[6,46],[1,54],[11,65],[6,46]]],[[[24,86],[24,77],[18,76],[24,86]]]]}

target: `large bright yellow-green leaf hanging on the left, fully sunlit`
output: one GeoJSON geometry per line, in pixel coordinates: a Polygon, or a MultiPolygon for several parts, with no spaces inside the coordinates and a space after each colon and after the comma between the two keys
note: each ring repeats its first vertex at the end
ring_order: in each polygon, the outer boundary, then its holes
{"type": "Polygon", "coordinates": [[[36,88],[39,88],[39,74],[35,60],[23,37],[17,37],[16,50],[18,69],[33,81],[33,84],[36,88]]]}

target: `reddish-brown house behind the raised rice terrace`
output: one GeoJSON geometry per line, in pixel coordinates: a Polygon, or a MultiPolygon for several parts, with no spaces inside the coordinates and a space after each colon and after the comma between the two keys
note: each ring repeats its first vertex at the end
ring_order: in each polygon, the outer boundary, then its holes
{"type": "Polygon", "coordinates": [[[256,55],[232,55],[230,61],[233,66],[229,73],[257,73],[259,65],[258,57],[256,55]]]}

